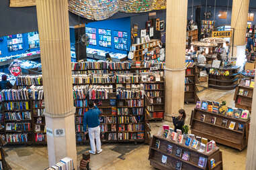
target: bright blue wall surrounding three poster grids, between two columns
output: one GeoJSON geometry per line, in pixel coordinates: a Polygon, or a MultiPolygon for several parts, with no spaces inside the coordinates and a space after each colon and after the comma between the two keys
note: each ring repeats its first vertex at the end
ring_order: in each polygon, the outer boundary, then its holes
{"type": "Polygon", "coordinates": [[[128,50],[130,49],[130,17],[124,17],[120,19],[110,19],[105,21],[95,21],[92,23],[87,23],[85,27],[95,27],[96,28],[96,41],[97,46],[89,45],[88,48],[94,48],[98,50],[105,50],[107,52],[114,52],[120,54],[127,54],[127,51],[117,50],[114,46],[114,31],[126,31],[128,32],[128,50]],[[111,45],[112,48],[104,48],[99,46],[99,34],[98,29],[110,29],[112,33],[111,45]]]}

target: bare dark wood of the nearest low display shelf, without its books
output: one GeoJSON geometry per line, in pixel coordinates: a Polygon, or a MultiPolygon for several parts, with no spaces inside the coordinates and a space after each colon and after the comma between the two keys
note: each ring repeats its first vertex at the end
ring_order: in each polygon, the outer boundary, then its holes
{"type": "Polygon", "coordinates": [[[218,147],[216,147],[213,151],[210,153],[202,153],[196,149],[191,149],[191,147],[187,147],[185,145],[185,140],[183,140],[182,144],[179,144],[175,141],[171,141],[169,139],[165,139],[163,137],[157,137],[153,136],[153,139],[151,139],[151,145],[149,148],[149,161],[151,162],[151,165],[157,169],[161,170],[175,170],[175,166],[177,161],[182,163],[181,169],[187,169],[187,170],[194,170],[194,169],[218,169],[222,170],[222,152],[218,147]],[[159,148],[156,147],[156,141],[160,141],[159,148]],[[167,146],[171,145],[172,152],[167,153],[167,146]],[[175,155],[175,152],[177,150],[177,147],[182,149],[181,151],[181,157],[177,157],[175,155]],[[182,159],[182,155],[184,151],[188,151],[190,153],[189,160],[185,161],[182,159]],[[167,163],[162,163],[162,157],[163,155],[167,156],[167,163]],[[204,157],[206,159],[206,166],[200,167],[198,166],[198,161],[200,157],[204,157]],[[211,168],[210,160],[215,160],[215,167],[211,168]]]}

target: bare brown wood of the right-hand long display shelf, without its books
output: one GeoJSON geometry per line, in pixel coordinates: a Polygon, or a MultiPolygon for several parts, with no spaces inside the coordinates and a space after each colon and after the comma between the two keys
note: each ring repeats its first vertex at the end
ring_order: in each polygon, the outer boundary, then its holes
{"type": "Polygon", "coordinates": [[[195,108],[191,114],[190,126],[191,133],[195,135],[242,151],[248,143],[249,122],[250,119],[243,120],[195,108]],[[205,120],[201,119],[202,114],[206,116],[205,120]],[[210,122],[211,118],[214,117],[216,117],[215,124],[210,122]],[[222,124],[224,119],[227,120],[226,126],[222,124]],[[235,122],[234,129],[228,128],[231,121],[235,122]],[[239,124],[243,124],[243,130],[241,131],[239,130],[239,124]]]}

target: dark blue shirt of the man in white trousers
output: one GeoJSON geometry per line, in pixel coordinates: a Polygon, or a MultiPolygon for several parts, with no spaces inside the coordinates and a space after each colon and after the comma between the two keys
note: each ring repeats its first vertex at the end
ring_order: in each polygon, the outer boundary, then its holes
{"type": "Polygon", "coordinates": [[[99,126],[99,115],[101,114],[101,111],[97,106],[94,106],[94,108],[89,109],[85,114],[83,115],[83,131],[87,131],[87,125],[89,128],[94,128],[99,126]]]}

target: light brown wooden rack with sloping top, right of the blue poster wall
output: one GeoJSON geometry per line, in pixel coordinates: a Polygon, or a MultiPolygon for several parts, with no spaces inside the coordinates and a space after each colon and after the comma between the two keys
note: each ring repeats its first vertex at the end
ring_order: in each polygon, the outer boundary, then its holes
{"type": "Polygon", "coordinates": [[[159,39],[152,39],[148,43],[143,44],[132,44],[136,48],[134,51],[134,61],[143,61],[144,60],[144,50],[152,51],[156,47],[158,47],[161,44],[161,40],[159,39]]]}

